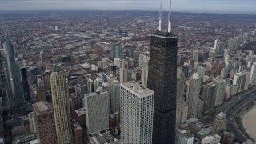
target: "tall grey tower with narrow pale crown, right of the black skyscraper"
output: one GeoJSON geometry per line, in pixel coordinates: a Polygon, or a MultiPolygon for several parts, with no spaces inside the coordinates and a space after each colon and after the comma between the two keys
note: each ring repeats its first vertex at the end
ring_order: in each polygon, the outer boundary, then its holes
{"type": "Polygon", "coordinates": [[[186,89],[186,102],[188,103],[188,118],[194,118],[197,115],[198,101],[200,93],[201,78],[198,77],[198,73],[194,73],[187,82],[186,89]]]}

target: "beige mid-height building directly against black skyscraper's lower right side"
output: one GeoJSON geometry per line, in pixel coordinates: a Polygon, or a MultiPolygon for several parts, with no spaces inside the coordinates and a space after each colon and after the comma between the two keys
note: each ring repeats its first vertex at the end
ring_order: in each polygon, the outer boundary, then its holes
{"type": "Polygon", "coordinates": [[[177,100],[176,122],[178,127],[186,128],[188,126],[187,120],[188,105],[183,99],[177,100]]]}

